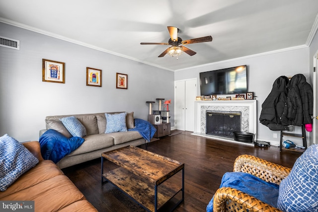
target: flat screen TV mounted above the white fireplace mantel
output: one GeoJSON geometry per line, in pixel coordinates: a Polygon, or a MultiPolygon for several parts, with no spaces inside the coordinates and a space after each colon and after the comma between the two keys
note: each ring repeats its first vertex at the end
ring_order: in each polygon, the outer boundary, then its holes
{"type": "Polygon", "coordinates": [[[200,73],[201,95],[247,92],[246,65],[200,73]]]}

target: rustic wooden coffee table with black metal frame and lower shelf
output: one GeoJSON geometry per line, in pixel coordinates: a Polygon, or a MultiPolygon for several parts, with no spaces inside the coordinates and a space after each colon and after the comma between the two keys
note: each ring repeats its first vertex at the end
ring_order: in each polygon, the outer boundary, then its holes
{"type": "Polygon", "coordinates": [[[101,154],[101,181],[102,185],[112,183],[151,212],[168,202],[173,202],[175,209],[184,200],[184,163],[135,146],[101,154]],[[116,164],[115,168],[113,164],[104,167],[104,159],[116,164]],[[176,175],[181,170],[182,176],[176,175]],[[175,198],[177,201],[172,201],[175,198]]]}

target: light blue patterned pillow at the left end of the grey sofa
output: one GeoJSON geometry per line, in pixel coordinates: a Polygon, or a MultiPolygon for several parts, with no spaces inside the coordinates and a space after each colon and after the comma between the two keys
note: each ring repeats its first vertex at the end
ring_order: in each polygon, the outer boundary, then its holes
{"type": "Polygon", "coordinates": [[[86,128],[75,116],[63,117],[60,119],[60,121],[73,137],[83,138],[87,135],[86,128]]]}

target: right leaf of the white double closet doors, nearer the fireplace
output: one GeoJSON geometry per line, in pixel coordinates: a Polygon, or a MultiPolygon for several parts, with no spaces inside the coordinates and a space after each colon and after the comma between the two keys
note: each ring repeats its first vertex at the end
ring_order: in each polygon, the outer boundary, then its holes
{"type": "Polygon", "coordinates": [[[185,131],[194,132],[194,101],[197,96],[197,80],[185,81],[185,131]]]}

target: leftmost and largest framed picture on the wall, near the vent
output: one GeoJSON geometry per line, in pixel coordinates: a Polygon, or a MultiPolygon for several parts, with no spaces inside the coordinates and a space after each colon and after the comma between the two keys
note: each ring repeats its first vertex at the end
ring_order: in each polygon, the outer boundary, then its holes
{"type": "Polygon", "coordinates": [[[65,83],[65,63],[42,59],[42,81],[65,83]]]}

